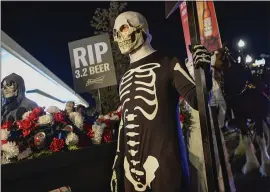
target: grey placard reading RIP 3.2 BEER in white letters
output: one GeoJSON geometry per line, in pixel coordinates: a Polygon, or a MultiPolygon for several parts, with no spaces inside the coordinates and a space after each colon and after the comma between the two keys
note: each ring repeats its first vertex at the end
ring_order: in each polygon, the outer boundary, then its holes
{"type": "Polygon", "coordinates": [[[116,85],[109,34],[70,42],[69,52],[77,92],[116,85]]]}

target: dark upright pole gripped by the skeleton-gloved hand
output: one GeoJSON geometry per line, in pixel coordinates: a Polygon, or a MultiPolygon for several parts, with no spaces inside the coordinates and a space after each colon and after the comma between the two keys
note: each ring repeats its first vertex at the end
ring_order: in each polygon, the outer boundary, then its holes
{"type": "MultiPolygon", "coordinates": [[[[198,21],[196,20],[196,1],[187,2],[187,13],[191,45],[200,44],[200,33],[198,29],[198,21]]],[[[214,140],[208,107],[209,96],[206,88],[204,70],[201,68],[194,69],[194,75],[196,81],[196,92],[199,107],[207,187],[208,191],[218,192],[220,191],[218,182],[218,169],[216,166],[214,140]]]]}

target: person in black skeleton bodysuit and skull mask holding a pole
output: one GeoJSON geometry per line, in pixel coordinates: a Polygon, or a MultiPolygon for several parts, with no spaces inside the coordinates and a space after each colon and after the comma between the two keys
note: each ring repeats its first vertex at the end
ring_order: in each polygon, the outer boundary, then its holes
{"type": "MultiPolygon", "coordinates": [[[[131,64],[120,82],[122,119],[112,191],[180,191],[189,171],[179,123],[179,94],[198,109],[195,83],[177,58],[151,47],[148,24],[141,14],[120,14],[114,40],[122,54],[129,54],[131,64]]],[[[196,63],[210,63],[204,47],[195,46],[194,51],[196,63]]]]}

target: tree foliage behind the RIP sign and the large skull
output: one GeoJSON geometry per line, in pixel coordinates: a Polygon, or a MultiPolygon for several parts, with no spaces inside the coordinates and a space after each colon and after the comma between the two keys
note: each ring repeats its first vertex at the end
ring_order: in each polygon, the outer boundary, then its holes
{"type": "MultiPolygon", "coordinates": [[[[97,8],[91,21],[91,26],[95,29],[95,35],[109,33],[111,42],[113,42],[114,21],[116,17],[124,11],[126,6],[127,3],[125,2],[112,1],[107,9],[97,8]]],[[[128,67],[129,58],[127,55],[120,53],[116,43],[113,42],[111,46],[117,82],[119,82],[128,67]]],[[[92,94],[96,101],[99,101],[98,91],[94,90],[92,94]]],[[[117,86],[100,89],[100,97],[103,114],[115,110],[120,103],[117,86]]]]}

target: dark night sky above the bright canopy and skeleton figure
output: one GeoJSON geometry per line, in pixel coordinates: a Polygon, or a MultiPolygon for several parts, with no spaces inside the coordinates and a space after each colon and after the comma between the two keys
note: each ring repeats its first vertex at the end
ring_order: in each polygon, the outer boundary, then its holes
{"type": "MultiPolygon", "coordinates": [[[[90,20],[109,2],[1,2],[2,30],[73,87],[68,42],[93,36],[90,20]]],[[[253,55],[270,53],[270,2],[215,2],[223,41],[243,38],[253,55]]],[[[186,57],[179,12],[164,18],[164,2],[128,2],[148,20],[155,49],[186,57]]]]}

